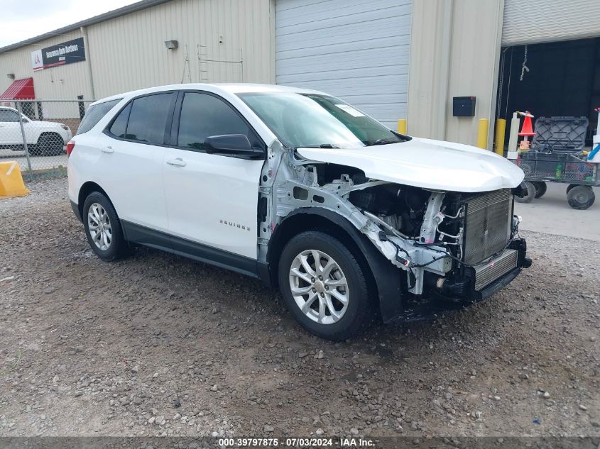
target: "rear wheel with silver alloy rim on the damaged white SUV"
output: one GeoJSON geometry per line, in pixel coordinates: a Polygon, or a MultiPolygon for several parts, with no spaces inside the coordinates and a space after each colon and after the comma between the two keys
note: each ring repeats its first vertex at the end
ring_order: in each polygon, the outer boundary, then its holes
{"type": "Polygon", "coordinates": [[[100,192],[92,192],[83,204],[83,226],[87,241],[98,257],[105,262],[124,255],[127,243],[121,221],[109,199],[100,192]]]}

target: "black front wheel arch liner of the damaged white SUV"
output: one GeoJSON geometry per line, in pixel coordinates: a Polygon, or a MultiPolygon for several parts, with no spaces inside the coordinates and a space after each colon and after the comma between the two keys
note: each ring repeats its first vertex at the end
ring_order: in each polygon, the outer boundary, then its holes
{"type": "Polygon", "coordinates": [[[381,318],[388,323],[403,313],[403,272],[375,248],[346,218],[329,209],[307,207],[288,214],[276,227],[267,251],[270,283],[277,286],[277,270],[283,247],[304,231],[322,231],[340,240],[353,253],[366,272],[373,297],[379,301],[381,318]]]}

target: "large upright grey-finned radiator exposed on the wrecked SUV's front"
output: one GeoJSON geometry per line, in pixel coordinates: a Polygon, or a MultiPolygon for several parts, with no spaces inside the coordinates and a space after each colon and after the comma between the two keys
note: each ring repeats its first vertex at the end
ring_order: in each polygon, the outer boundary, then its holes
{"type": "Polygon", "coordinates": [[[511,189],[467,199],[464,262],[476,265],[502,250],[511,238],[511,189]]]}

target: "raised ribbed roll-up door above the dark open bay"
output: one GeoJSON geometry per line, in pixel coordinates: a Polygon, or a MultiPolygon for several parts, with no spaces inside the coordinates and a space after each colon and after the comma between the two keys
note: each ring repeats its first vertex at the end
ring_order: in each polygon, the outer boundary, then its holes
{"type": "Polygon", "coordinates": [[[502,45],[600,36],[599,0],[505,0],[502,45]]]}

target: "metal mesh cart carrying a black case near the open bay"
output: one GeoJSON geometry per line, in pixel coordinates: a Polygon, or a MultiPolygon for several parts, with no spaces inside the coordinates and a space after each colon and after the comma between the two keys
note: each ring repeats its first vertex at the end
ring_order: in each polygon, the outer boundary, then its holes
{"type": "Polygon", "coordinates": [[[535,121],[531,150],[518,154],[513,163],[525,173],[529,194],[516,201],[529,203],[546,192],[546,182],[568,184],[567,201],[573,209],[594,204],[600,186],[600,164],[589,162],[583,152],[589,121],[585,117],[540,117],[535,121]]]}

